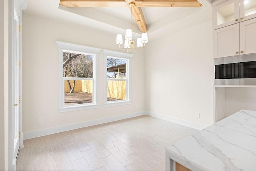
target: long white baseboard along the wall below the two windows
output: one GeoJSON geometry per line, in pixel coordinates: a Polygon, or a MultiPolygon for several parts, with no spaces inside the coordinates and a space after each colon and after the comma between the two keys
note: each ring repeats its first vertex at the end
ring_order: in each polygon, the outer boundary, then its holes
{"type": "Polygon", "coordinates": [[[24,139],[31,139],[31,138],[36,138],[36,137],[42,137],[44,135],[50,135],[53,133],[59,133],[59,132],[64,132],[64,131],[70,131],[73,129],[78,129],[82,127],[89,127],[93,125],[98,125],[102,123],[108,123],[112,121],[118,121],[122,119],[128,119],[131,117],[136,117],[136,116],[141,116],[141,115],[146,115],[145,111],[139,111],[139,112],[134,112],[134,113],[127,113],[124,115],[117,115],[117,116],[112,116],[112,117],[106,117],[102,119],[96,119],[96,120],[91,120],[91,121],[85,121],[85,122],[80,122],[80,123],[74,123],[71,125],[63,125],[59,127],[51,127],[47,129],[41,129],[37,131],[31,131],[31,132],[25,132],[23,135],[24,139]]]}

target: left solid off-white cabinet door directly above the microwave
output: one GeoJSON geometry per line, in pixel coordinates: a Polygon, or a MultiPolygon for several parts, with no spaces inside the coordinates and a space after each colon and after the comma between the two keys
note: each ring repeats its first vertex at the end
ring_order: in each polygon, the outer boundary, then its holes
{"type": "Polygon", "coordinates": [[[239,55],[239,24],[213,31],[213,57],[239,55]]]}

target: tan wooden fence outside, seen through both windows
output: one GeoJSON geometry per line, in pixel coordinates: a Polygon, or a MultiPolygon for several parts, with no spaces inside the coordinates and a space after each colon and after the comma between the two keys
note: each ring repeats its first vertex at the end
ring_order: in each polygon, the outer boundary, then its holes
{"type": "MultiPolygon", "coordinates": [[[[71,87],[73,87],[73,80],[69,80],[71,87]]],[[[64,82],[64,92],[69,93],[70,89],[68,81],[64,82]]],[[[76,80],[74,93],[87,92],[92,93],[92,80],[76,80]]],[[[107,81],[107,96],[115,99],[126,99],[126,80],[124,81],[107,81]]]]}

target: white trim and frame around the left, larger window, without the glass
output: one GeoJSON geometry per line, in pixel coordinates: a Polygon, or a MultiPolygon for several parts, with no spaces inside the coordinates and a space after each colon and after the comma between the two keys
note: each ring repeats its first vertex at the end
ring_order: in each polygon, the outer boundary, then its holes
{"type": "MultiPolygon", "coordinates": [[[[98,103],[98,57],[99,53],[102,49],[100,48],[92,48],[83,45],[71,44],[66,42],[56,41],[59,48],[59,109],[58,111],[67,112],[67,111],[77,111],[77,110],[84,110],[84,109],[95,109],[99,107],[98,103]],[[93,101],[94,103],[90,104],[78,104],[78,105],[64,105],[64,84],[63,84],[63,52],[64,51],[72,51],[78,53],[86,53],[94,55],[94,70],[93,70],[93,77],[94,77],[94,89],[93,89],[93,101]]],[[[92,78],[88,78],[89,80],[92,78]]],[[[74,78],[72,78],[74,80],[74,78]]],[[[79,80],[79,79],[76,79],[79,80]]]]}

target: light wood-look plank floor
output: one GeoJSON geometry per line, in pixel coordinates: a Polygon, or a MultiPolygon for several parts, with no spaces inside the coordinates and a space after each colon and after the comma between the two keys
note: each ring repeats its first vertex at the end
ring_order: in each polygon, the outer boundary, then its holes
{"type": "Polygon", "coordinates": [[[164,171],[165,147],[198,130],[147,115],[24,141],[17,171],[164,171]]]}

